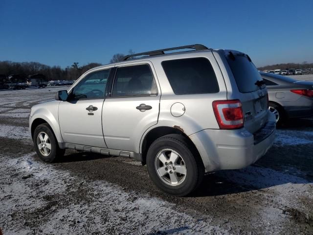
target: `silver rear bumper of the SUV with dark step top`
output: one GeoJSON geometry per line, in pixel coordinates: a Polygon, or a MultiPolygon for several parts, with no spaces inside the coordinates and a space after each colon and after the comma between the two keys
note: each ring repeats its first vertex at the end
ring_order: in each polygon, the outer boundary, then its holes
{"type": "Polygon", "coordinates": [[[254,135],[239,130],[202,130],[189,138],[196,145],[207,172],[240,169],[255,163],[272,146],[275,124],[269,115],[267,124],[254,135]]]}

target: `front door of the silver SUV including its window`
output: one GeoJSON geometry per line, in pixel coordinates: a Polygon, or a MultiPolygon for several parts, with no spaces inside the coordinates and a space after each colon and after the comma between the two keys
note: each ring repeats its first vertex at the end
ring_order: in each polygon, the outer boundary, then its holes
{"type": "Polygon", "coordinates": [[[59,105],[62,138],[67,143],[107,147],[102,132],[102,108],[110,69],[87,74],[59,105]]]}

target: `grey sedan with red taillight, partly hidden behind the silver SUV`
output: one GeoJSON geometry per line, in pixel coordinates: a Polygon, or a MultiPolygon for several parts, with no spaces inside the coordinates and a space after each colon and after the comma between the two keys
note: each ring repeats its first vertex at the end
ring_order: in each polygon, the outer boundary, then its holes
{"type": "Polygon", "coordinates": [[[313,82],[261,72],[268,88],[269,111],[281,125],[289,118],[313,116],[313,82]]]}

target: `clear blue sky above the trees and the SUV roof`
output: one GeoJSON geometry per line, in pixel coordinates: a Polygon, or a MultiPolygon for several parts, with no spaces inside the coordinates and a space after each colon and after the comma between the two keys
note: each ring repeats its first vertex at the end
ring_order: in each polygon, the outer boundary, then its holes
{"type": "Polygon", "coordinates": [[[237,49],[256,66],[313,62],[312,0],[0,0],[0,60],[107,64],[188,44],[237,49]]]}

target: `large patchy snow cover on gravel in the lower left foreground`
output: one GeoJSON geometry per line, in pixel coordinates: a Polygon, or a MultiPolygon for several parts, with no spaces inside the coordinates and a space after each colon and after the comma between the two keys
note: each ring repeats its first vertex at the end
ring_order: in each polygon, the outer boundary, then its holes
{"type": "MultiPolygon", "coordinates": [[[[51,213],[48,219],[38,221],[38,224],[35,221],[37,218],[26,216],[26,222],[36,224],[36,230],[43,234],[83,234],[86,227],[89,234],[149,234],[157,231],[172,235],[228,234],[208,222],[175,211],[174,204],[136,192],[128,193],[105,181],[86,183],[84,179],[57,170],[53,165],[34,161],[33,155],[27,154],[18,159],[1,156],[0,221],[4,225],[4,234],[32,233],[33,229],[24,226],[25,221],[18,220],[19,223],[16,223],[14,215],[21,212],[19,209],[23,208],[23,213],[29,215],[43,210],[47,207],[46,199],[51,195],[67,196],[75,191],[75,184],[85,188],[87,196],[92,194],[93,200],[71,203],[51,213]],[[20,175],[19,180],[12,181],[10,173],[20,175]],[[45,184],[34,190],[36,182],[45,184]],[[90,223],[96,223],[96,226],[89,226],[90,223]]],[[[62,204],[62,201],[57,203],[62,204]]],[[[52,205],[48,210],[57,208],[57,205],[52,205]]]]}

